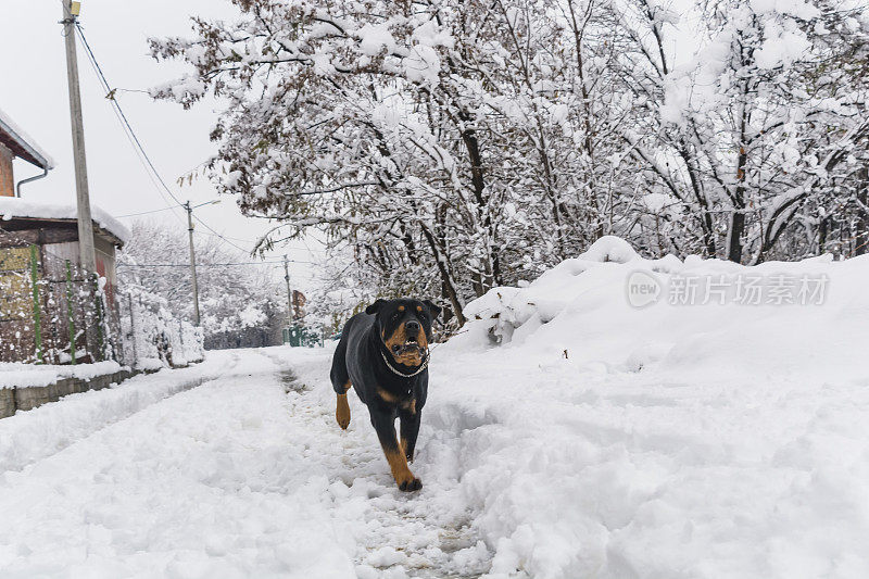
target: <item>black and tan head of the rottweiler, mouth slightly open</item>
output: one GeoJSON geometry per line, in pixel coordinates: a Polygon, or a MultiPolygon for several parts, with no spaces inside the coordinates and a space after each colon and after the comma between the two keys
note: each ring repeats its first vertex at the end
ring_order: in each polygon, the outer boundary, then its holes
{"type": "Polygon", "coordinates": [[[365,309],[390,355],[399,364],[419,366],[431,341],[431,322],[441,313],[430,300],[377,300],[365,309]]]}

